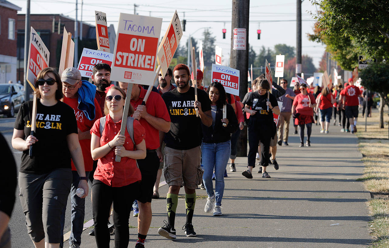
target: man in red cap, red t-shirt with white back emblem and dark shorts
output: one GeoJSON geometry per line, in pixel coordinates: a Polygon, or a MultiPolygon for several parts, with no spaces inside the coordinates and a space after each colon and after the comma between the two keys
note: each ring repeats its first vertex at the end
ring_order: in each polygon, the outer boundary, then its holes
{"type": "Polygon", "coordinates": [[[346,117],[350,121],[351,133],[357,131],[357,119],[358,119],[358,97],[361,97],[361,91],[354,85],[352,78],[349,78],[349,86],[347,86],[341,93],[343,95],[343,109],[346,112],[346,117]]]}

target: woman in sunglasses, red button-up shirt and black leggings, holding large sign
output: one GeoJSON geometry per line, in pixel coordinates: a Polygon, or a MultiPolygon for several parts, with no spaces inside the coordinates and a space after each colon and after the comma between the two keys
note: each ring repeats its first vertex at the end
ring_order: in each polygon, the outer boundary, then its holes
{"type": "MultiPolygon", "coordinates": [[[[91,129],[91,154],[94,160],[98,159],[92,185],[95,238],[97,247],[109,247],[107,219],[113,203],[115,247],[124,248],[128,246],[131,205],[137,196],[138,182],[141,180],[136,159],[146,157],[145,129],[139,121],[133,120],[135,144],[127,128],[125,134],[121,135],[126,93],[114,85],[107,87],[105,93],[105,122],[101,124],[100,129],[100,118],[91,129]],[[120,162],[115,161],[116,155],[121,157],[120,162]]],[[[128,116],[133,112],[134,109],[130,105],[128,116]]]]}

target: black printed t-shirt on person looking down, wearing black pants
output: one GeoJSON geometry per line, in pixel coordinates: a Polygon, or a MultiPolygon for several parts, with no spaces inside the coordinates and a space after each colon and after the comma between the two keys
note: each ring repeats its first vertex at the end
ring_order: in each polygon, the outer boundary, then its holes
{"type": "MultiPolygon", "coordinates": [[[[250,120],[253,121],[273,121],[273,111],[269,108],[267,111],[267,93],[260,95],[258,91],[252,92],[248,97],[245,104],[251,107],[251,110],[255,110],[255,115],[250,115],[250,120]]],[[[278,102],[275,96],[269,94],[269,101],[272,104],[272,107],[277,107],[278,102]]]]}

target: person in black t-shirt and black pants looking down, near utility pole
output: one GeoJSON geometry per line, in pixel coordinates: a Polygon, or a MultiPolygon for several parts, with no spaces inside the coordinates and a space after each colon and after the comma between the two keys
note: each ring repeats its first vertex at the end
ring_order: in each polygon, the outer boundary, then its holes
{"type": "Polygon", "coordinates": [[[262,177],[270,177],[266,172],[266,166],[269,165],[269,147],[270,139],[274,137],[276,126],[273,118],[273,112],[280,114],[277,99],[269,94],[270,84],[266,79],[261,79],[257,83],[258,91],[250,94],[246,101],[245,112],[250,114],[249,119],[249,155],[247,156],[247,171],[242,175],[252,178],[252,169],[255,167],[256,153],[259,141],[261,146],[262,177]],[[251,107],[251,109],[250,109],[251,107]]]}

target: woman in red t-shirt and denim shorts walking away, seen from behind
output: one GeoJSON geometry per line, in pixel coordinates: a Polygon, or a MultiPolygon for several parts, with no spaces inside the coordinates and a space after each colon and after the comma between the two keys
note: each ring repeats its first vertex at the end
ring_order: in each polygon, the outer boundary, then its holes
{"type": "Polygon", "coordinates": [[[332,115],[332,105],[335,103],[335,98],[333,95],[329,92],[328,87],[324,87],[321,90],[320,96],[317,96],[317,105],[315,107],[315,112],[317,112],[317,108],[320,109],[320,117],[321,117],[321,130],[320,133],[328,133],[328,127],[329,122],[331,121],[331,115],[332,115]],[[325,121],[325,124],[324,124],[325,121]],[[325,131],[324,131],[325,127],[325,131]]]}

